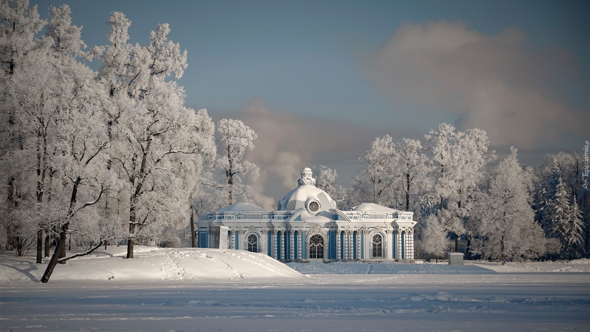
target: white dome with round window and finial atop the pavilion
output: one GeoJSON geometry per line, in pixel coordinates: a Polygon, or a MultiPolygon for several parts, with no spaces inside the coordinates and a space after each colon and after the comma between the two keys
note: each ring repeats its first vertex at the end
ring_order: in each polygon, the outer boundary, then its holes
{"type": "Polygon", "coordinates": [[[278,201],[277,210],[297,210],[303,207],[315,214],[319,211],[336,209],[336,202],[332,200],[332,197],[315,186],[316,179],[312,177],[310,168],[303,168],[297,183],[299,187],[289,191],[282,200],[278,201]]]}

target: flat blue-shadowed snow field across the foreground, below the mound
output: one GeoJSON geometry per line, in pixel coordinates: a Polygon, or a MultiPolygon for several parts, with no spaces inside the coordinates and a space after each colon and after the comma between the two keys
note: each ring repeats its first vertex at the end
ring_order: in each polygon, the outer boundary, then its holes
{"type": "Polygon", "coordinates": [[[588,274],[1,284],[0,331],[585,331],[588,274]]]}

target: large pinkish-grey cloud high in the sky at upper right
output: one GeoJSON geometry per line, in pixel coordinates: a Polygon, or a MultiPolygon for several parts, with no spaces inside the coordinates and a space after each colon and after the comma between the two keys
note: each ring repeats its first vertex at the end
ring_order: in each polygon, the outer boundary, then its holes
{"type": "Polygon", "coordinates": [[[455,112],[459,129],[484,129],[492,144],[526,148],[581,134],[586,119],[558,96],[575,59],[531,50],[526,38],[514,28],[489,35],[461,22],[404,24],[362,67],[394,104],[455,112]]]}

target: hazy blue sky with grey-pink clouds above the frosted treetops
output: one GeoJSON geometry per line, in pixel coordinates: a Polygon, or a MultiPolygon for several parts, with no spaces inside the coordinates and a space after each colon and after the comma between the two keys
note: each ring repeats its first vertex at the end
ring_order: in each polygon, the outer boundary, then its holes
{"type": "MultiPolygon", "coordinates": [[[[37,2],[44,17],[62,3],[37,2]]],[[[65,3],[89,46],[107,44],[112,11],[144,45],[168,22],[189,54],[187,105],[259,132],[249,157],[263,196],[280,198],[307,165],[346,185],[376,136],[423,139],[440,122],[486,129],[500,157],[514,145],[531,165],[589,138],[587,1],[65,3]]]]}

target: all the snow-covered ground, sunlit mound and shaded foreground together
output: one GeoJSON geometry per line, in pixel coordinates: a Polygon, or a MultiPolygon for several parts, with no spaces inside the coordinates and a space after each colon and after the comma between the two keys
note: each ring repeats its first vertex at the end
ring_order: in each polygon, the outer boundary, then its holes
{"type": "Polygon", "coordinates": [[[125,250],[109,247],[71,259],[55,268],[49,284],[34,282],[45,263],[35,265],[32,255],[1,253],[0,331],[496,332],[590,327],[590,273],[543,272],[588,271],[588,259],[505,266],[288,263],[291,269],[266,255],[238,250],[136,246],[136,259],[124,259],[125,250]]]}

